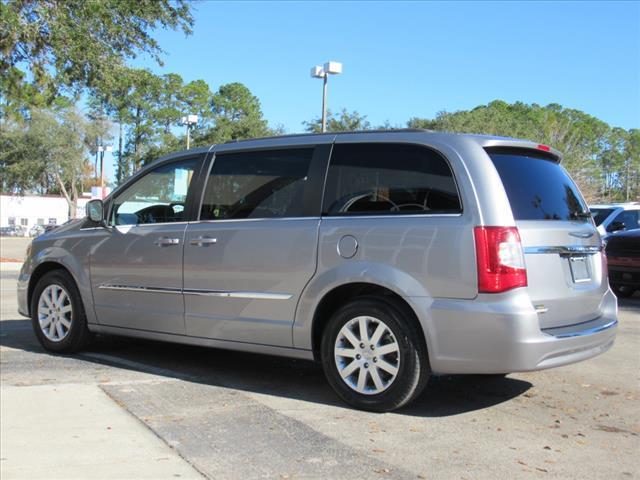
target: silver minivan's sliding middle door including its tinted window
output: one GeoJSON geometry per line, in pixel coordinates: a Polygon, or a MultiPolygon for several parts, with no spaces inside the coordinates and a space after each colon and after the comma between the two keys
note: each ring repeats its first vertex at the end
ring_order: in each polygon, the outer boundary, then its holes
{"type": "Polygon", "coordinates": [[[292,345],[296,304],[316,269],[330,148],[215,153],[185,237],[187,335],[292,345]]]}

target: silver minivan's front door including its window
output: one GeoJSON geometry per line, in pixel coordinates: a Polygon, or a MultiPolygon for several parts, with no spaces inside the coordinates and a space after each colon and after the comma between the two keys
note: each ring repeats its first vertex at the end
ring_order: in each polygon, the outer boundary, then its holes
{"type": "Polygon", "coordinates": [[[91,252],[101,325],[184,335],[182,254],[199,165],[165,162],[111,201],[109,227],[91,252]]]}

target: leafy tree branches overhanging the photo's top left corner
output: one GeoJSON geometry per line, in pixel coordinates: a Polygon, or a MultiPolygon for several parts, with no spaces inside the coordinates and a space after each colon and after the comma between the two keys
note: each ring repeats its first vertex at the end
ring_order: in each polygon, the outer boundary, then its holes
{"type": "Polygon", "coordinates": [[[163,51],[151,32],[190,34],[190,9],[186,0],[0,2],[4,108],[46,106],[63,90],[116,81],[117,67],[141,53],[161,63],[163,51]]]}

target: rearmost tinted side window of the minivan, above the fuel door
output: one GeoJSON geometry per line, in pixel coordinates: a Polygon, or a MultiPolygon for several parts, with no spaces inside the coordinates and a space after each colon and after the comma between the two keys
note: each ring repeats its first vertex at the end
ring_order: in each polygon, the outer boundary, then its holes
{"type": "Polygon", "coordinates": [[[451,169],[438,153],[406,144],[333,147],[324,215],[459,213],[451,169]]]}

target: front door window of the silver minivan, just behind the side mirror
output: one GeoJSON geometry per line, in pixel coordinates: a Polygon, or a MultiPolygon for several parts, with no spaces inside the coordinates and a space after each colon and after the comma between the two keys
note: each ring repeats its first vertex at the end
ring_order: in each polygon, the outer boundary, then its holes
{"type": "Polygon", "coordinates": [[[113,225],[144,225],[187,220],[187,192],[197,159],[162,165],[147,173],[113,201],[113,225]]]}

